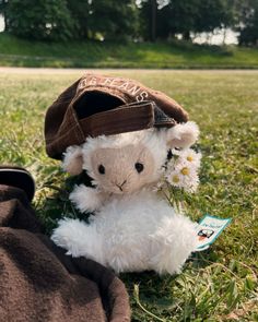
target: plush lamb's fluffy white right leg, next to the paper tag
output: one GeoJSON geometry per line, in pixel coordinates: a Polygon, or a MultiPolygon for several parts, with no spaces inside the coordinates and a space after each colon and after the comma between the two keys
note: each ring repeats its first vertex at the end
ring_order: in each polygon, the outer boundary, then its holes
{"type": "Polygon", "coordinates": [[[160,274],[179,273],[197,247],[196,224],[181,215],[166,218],[153,236],[153,270],[160,274]]]}

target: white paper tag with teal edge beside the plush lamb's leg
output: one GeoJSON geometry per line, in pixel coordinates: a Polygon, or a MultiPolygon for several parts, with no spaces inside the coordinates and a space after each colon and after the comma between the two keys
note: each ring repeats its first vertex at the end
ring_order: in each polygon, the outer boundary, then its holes
{"type": "Polygon", "coordinates": [[[208,249],[221,235],[222,230],[231,223],[232,218],[219,218],[204,215],[197,226],[198,246],[196,251],[208,249]]]}

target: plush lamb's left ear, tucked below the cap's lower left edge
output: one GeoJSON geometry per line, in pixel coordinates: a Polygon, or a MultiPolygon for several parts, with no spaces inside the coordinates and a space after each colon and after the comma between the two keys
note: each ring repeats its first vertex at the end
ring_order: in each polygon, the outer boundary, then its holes
{"type": "Polygon", "coordinates": [[[72,176],[80,175],[82,171],[82,148],[81,146],[69,146],[63,154],[62,168],[72,176]]]}

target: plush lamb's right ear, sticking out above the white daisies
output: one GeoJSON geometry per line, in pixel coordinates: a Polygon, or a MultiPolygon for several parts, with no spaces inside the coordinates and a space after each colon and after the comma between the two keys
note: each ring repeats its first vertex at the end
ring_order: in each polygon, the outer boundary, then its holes
{"type": "Polygon", "coordinates": [[[171,147],[189,147],[199,136],[199,128],[195,122],[176,124],[167,130],[166,142],[171,147]]]}

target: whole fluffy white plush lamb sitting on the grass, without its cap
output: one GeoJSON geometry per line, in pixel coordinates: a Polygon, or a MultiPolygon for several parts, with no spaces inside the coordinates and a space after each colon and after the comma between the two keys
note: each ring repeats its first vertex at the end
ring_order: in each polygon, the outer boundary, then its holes
{"type": "Polygon", "coordinates": [[[197,246],[196,224],[154,191],[173,148],[198,139],[196,123],[87,138],[68,147],[63,168],[86,170],[95,188],[77,186],[71,201],[94,212],[90,224],[64,218],[51,239],[72,257],[86,257],[116,272],[178,273],[197,246]]]}

